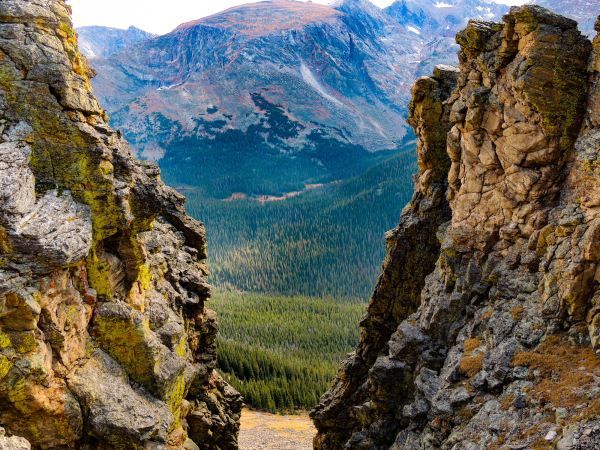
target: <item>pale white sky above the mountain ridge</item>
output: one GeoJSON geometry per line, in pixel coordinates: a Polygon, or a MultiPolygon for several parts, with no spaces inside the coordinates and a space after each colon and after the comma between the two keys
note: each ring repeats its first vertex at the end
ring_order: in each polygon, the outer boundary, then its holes
{"type": "MultiPolygon", "coordinates": [[[[331,0],[313,0],[328,4],[331,0]]],[[[393,0],[371,0],[378,6],[388,6],[393,0]]],[[[522,4],[525,0],[496,0],[498,3],[522,4]]],[[[134,25],[142,30],[165,34],[177,25],[218,13],[232,6],[251,3],[252,0],[67,0],[73,7],[76,27],[103,25],[128,28],[134,25]]]]}

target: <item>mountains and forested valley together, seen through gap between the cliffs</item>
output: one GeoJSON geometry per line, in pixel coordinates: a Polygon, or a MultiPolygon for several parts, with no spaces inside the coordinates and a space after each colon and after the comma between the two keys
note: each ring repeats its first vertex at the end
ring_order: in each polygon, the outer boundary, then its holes
{"type": "MultiPolygon", "coordinates": [[[[585,1],[541,1],[592,34],[585,1]]],[[[412,196],[414,80],[457,65],[469,19],[507,11],[484,0],[274,0],[164,36],[78,30],[111,125],[206,224],[219,365],[251,405],[310,408],[334,377],[358,339],[348,324],[380,272],[385,233],[412,196]],[[278,325],[259,325],[265,317],[278,325]]]]}

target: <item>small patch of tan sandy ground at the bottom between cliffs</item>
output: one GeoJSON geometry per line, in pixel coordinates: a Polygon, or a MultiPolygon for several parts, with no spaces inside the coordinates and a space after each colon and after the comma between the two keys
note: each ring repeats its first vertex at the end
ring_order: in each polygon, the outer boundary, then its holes
{"type": "Polygon", "coordinates": [[[244,409],[240,450],[312,450],[315,434],[306,414],[279,416],[244,409]]]}

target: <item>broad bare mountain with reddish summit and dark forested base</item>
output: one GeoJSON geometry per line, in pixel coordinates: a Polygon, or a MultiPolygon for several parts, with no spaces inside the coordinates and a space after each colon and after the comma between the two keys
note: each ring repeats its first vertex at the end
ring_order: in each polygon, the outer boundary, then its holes
{"type": "MultiPolygon", "coordinates": [[[[357,175],[377,162],[374,151],[406,138],[402,86],[421,39],[356,3],[255,3],[183,24],[94,60],[95,92],[112,123],[140,154],[164,158],[167,172],[187,161],[227,183],[219,172],[227,162],[251,161],[256,184],[234,182],[214,195],[276,194],[357,175]],[[287,180],[269,186],[275,168],[287,180]]],[[[248,180],[251,170],[226,175],[248,180]]]]}

